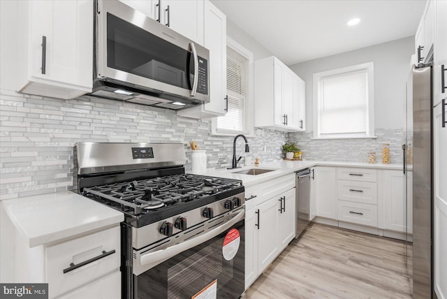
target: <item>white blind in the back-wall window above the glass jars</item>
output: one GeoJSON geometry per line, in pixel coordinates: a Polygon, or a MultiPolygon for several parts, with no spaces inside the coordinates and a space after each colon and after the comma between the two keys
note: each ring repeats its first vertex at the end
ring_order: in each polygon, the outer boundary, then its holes
{"type": "Polygon", "coordinates": [[[320,79],[320,134],[367,133],[367,70],[320,79]]]}

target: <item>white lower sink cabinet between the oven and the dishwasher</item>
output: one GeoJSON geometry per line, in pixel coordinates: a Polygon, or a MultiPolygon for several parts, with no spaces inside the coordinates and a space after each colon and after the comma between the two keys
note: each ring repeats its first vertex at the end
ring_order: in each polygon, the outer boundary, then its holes
{"type": "Polygon", "coordinates": [[[295,174],[245,189],[245,289],[295,238],[295,174]],[[256,197],[253,197],[256,196],[256,197]]]}

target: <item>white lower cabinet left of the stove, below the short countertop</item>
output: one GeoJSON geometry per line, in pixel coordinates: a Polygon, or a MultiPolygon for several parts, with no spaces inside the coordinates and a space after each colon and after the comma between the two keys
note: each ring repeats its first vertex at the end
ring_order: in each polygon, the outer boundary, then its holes
{"type": "Polygon", "coordinates": [[[17,237],[15,280],[48,283],[48,298],[120,298],[120,243],[119,225],[32,248],[17,237]]]}

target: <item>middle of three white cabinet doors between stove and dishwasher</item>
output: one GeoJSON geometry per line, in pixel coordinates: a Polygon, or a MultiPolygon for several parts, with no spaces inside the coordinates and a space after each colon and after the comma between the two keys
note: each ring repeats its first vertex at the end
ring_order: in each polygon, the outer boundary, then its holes
{"type": "Polygon", "coordinates": [[[259,209],[258,273],[272,263],[278,254],[278,200],[272,198],[259,209]]]}

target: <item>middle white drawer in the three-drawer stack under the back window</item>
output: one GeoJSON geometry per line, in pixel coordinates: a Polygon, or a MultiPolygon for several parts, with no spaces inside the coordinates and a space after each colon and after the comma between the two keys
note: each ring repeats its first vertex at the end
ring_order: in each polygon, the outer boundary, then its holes
{"type": "Polygon", "coordinates": [[[376,205],[377,183],[338,180],[337,199],[376,205]]]}

